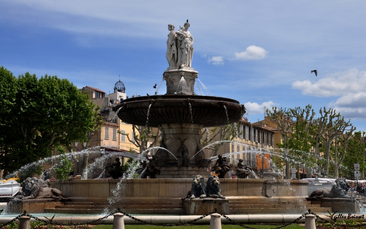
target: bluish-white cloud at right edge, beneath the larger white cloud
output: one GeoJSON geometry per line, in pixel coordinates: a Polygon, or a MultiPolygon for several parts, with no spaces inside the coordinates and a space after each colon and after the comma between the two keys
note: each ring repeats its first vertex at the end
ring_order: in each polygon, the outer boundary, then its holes
{"type": "Polygon", "coordinates": [[[366,92],[345,94],[329,106],[346,118],[366,118],[366,92]]]}

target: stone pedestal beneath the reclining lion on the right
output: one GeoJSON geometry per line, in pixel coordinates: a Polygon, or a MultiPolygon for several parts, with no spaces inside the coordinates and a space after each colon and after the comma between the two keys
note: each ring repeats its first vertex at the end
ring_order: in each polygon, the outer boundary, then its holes
{"type": "Polygon", "coordinates": [[[332,212],[341,213],[359,213],[363,208],[362,201],[359,198],[306,198],[311,204],[320,204],[320,207],[331,207],[332,212]],[[361,207],[362,206],[362,207],[361,207]]]}

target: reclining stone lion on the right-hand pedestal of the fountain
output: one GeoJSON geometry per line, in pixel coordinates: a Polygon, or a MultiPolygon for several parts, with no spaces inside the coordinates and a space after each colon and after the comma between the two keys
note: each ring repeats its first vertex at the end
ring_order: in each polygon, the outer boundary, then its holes
{"type": "Polygon", "coordinates": [[[350,198],[347,192],[349,186],[345,178],[337,178],[332,187],[318,188],[310,194],[309,198],[350,198]]]}

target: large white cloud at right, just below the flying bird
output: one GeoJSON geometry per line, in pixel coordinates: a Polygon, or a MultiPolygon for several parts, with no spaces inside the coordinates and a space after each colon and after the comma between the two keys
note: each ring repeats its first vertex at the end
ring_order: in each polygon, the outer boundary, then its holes
{"type": "MultiPolygon", "coordinates": [[[[315,75],[311,75],[311,77],[316,78],[315,75]]],[[[321,77],[321,71],[318,71],[318,77],[321,77]]],[[[292,83],[292,88],[301,90],[303,94],[318,97],[358,93],[366,88],[366,71],[349,69],[319,78],[316,82],[310,80],[295,81],[292,83]]]]}

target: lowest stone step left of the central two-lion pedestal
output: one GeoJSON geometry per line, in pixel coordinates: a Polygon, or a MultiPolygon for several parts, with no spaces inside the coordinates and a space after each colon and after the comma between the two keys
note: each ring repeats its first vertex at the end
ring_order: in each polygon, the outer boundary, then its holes
{"type": "MultiPolygon", "coordinates": [[[[128,214],[170,214],[179,215],[186,214],[185,208],[153,208],[153,209],[121,209],[128,214]]],[[[45,208],[45,213],[78,213],[78,214],[103,214],[104,209],[87,209],[87,208],[45,208]]],[[[113,210],[107,210],[108,213],[113,210]]],[[[108,214],[106,213],[106,214],[108,214]]]]}

